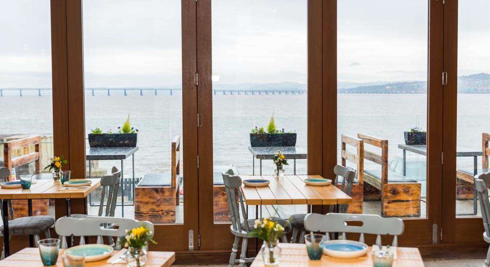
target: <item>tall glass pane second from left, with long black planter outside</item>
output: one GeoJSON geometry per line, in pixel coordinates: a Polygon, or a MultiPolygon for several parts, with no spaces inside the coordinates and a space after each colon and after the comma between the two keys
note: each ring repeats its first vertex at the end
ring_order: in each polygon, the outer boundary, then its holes
{"type": "MultiPolygon", "coordinates": [[[[111,138],[132,138],[119,132],[137,134],[138,147],[124,160],[89,160],[87,172],[122,170],[125,217],[183,222],[181,40],[180,1],[83,1],[87,152],[95,151],[91,143],[110,147],[111,138]]],[[[89,214],[98,214],[100,197],[101,189],[91,194],[89,214]]],[[[116,216],[121,204],[120,197],[116,216]]]]}

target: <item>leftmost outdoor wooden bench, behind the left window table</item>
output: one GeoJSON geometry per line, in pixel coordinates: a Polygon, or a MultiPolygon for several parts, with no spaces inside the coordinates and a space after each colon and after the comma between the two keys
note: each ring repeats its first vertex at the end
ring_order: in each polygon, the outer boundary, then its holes
{"type": "MultiPolygon", "coordinates": [[[[35,174],[41,173],[41,136],[33,135],[21,139],[15,139],[3,143],[3,166],[7,167],[10,173],[12,168],[17,168],[31,162],[34,162],[35,174]],[[31,149],[33,148],[33,149],[31,149]],[[30,153],[26,153],[32,151],[30,153]],[[24,155],[22,155],[24,154],[24,155]],[[21,156],[14,156],[21,155],[21,156]]],[[[9,181],[14,180],[11,175],[9,181]]],[[[20,178],[19,178],[20,179],[20,178]]],[[[32,200],[32,215],[48,215],[48,199],[32,200]]],[[[27,217],[27,200],[12,200],[12,209],[14,217],[27,217]]]]}

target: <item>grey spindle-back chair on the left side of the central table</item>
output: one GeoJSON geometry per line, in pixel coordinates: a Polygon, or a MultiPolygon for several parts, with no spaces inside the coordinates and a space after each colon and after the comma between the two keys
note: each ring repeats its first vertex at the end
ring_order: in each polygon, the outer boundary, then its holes
{"type": "MultiPolygon", "coordinates": [[[[239,263],[241,267],[245,266],[246,263],[252,262],[254,258],[245,258],[246,250],[248,246],[248,236],[247,234],[251,232],[254,227],[255,219],[248,219],[245,209],[245,203],[242,196],[240,187],[242,186],[242,179],[236,175],[233,169],[222,173],[223,183],[225,186],[226,196],[228,199],[228,210],[230,211],[231,233],[235,236],[235,242],[233,243],[233,248],[231,249],[230,261],[228,266],[231,267],[235,263],[239,263]],[[238,194],[238,202],[237,202],[238,194]],[[240,206],[239,206],[240,203],[240,206]],[[242,210],[243,220],[240,216],[240,209],[242,210]],[[242,240],[242,253],[240,254],[240,260],[236,259],[238,251],[238,243],[240,239],[242,240]]],[[[271,217],[272,221],[279,222],[284,227],[284,233],[282,236],[282,241],[287,242],[286,234],[291,232],[291,225],[284,219],[278,217],[271,217]]]]}

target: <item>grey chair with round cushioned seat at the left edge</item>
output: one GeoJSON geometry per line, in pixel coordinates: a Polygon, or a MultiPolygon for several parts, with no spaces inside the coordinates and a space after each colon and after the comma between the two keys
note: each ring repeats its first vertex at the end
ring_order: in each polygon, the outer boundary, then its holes
{"type": "MultiPolygon", "coordinates": [[[[8,181],[10,171],[7,167],[0,167],[0,181],[8,181]]],[[[9,241],[12,236],[20,235],[33,235],[34,245],[37,247],[37,241],[39,241],[39,234],[45,234],[46,238],[51,238],[49,228],[54,224],[54,218],[48,215],[29,216],[14,218],[12,210],[12,203],[8,201],[8,210],[10,213],[10,220],[8,221],[8,234],[9,241]]],[[[0,211],[3,217],[3,205],[0,205],[0,211]]],[[[3,235],[3,225],[0,227],[0,232],[3,235]]],[[[1,259],[4,258],[5,247],[2,248],[1,259]]]]}

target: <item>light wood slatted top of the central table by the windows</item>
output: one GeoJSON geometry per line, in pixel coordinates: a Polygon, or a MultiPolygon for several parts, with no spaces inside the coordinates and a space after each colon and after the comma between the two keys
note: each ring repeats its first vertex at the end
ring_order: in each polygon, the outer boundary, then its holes
{"type": "Polygon", "coordinates": [[[337,205],[352,203],[352,198],[341,189],[330,186],[309,186],[303,182],[319,175],[286,175],[275,178],[271,175],[240,175],[243,180],[266,179],[267,187],[245,187],[242,185],[246,205],[337,205]]]}

